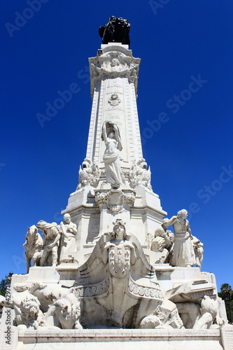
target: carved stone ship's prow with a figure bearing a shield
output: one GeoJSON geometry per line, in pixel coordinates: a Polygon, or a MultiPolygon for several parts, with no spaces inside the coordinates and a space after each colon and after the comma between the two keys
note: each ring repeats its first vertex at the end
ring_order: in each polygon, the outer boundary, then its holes
{"type": "Polygon", "coordinates": [[[76,296],[83,298],[80,309],[87,328],[94,324],[137,328],[145,310],[153,312],[163,301],[155,269],[120,218],[78,268],[73,288],[76,296]],[[131,317],[135,308],[135,317],[131,317]]]}

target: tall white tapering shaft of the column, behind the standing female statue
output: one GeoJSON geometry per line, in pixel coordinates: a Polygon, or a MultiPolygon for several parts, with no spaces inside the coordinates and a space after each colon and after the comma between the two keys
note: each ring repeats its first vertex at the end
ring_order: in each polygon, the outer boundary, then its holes
{"type": "Polygon", "coordinates": [[[118,125],[122,139],[122,168],[142,158],[136,89],[141,59],[121,43],[102,44],[97,57],[89,59],[92,114],[86,157],[104,168],[105,145],[101,127],[105,120],[118,125]]]}

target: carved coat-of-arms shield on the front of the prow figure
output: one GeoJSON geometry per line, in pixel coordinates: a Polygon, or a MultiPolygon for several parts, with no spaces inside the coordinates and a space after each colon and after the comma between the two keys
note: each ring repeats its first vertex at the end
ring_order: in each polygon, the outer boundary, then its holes
{"type": "Polygon", "coordinates": [[[130,248],[127,246],[112,246],[108,253],[109,270],[114,277],[127,276],[130,267],[130,248]]]}

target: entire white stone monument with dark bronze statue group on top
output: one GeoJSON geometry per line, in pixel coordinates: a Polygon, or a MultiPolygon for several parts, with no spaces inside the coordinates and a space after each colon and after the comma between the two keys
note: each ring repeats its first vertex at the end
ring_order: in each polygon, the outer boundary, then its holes
{"type": "Polygon", "coordinates": [[[27,274],[0,300],[1,349],[233,349],[215,276],[201,271],[202,237],[185,209],[164,218],[150,184],[129,28],[112,16],[99,29],[79,183],[64,221],[38,214],[27,230],[27,274]]]}

